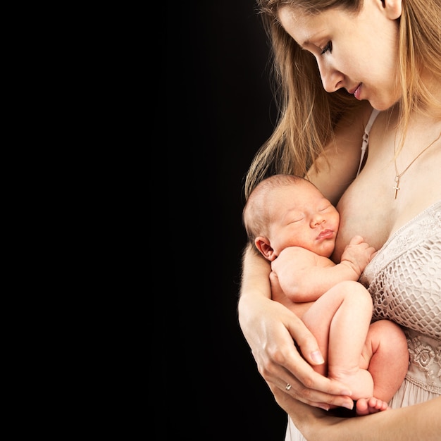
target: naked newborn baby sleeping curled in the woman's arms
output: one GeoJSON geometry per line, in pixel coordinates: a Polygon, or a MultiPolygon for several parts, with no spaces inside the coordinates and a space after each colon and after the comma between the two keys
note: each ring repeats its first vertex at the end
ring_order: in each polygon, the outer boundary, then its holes
{"type": "Polygon", "coordinates": [[[353,237],[340,263],[330,260],[340,214],[308,180],[273,175],[244,206],[248,239],[271,261],[272,298],[316,337],[325,364],[313,368],[349,386],[356,415],[388,409],[409,364],[399,325],[371,323],[372,299],[358,282],[375,254],[353,237]]]}

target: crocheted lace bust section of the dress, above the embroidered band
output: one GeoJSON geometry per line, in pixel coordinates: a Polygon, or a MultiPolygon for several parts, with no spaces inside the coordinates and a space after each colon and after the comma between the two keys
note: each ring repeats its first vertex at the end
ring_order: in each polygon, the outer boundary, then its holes
{"type": "Polygon", "coordinates": [[[441,339],[441,201],[384,244],[360,279],[373,299],[373,318],[441,339]]]}

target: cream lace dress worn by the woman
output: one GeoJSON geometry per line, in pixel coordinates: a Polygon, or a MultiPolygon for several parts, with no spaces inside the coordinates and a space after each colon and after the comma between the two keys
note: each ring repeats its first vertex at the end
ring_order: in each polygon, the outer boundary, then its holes
{"type": "MultiPolygon", "coordinates": [[[[441,201],[412,219],[383,245],[360,281],[373,298],[373,321],[402,325],[409,371],[390,401],[410,406],[441,395],[441,201]]],[[[285,441],[304,440],[288,418],[285,441]]]]}

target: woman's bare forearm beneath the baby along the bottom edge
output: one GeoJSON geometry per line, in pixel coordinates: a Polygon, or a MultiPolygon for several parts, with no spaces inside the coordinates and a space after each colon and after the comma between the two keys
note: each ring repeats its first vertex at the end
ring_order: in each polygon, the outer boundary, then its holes
{"type": "Polygon", "coordinates": [[[309,441],[440,440],[441,397],[377,414],[340,418],[270,387],[275,401],[309,441]]]}

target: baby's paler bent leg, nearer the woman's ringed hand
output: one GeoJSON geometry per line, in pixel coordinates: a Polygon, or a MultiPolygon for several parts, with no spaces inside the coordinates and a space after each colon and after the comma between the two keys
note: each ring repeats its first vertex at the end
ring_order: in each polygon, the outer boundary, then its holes
{"type": "Polygon", "coordinates": [[[354,400],[373,397],[367,365],[359,368],[371,316],[372,299],[367,290],[359,282],[347,281],[325,292],[302,317],[327,354],[328,373],[323,367],[321,373],[349,386],[354,400]]]}

